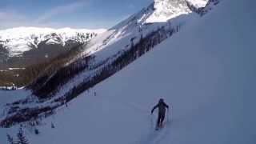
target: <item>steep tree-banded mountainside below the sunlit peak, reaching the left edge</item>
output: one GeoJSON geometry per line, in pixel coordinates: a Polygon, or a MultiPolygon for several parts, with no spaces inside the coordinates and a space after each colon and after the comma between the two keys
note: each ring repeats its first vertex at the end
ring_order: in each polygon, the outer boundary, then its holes
{"type": "MultiPolygon", "coordinates": [[[[177,3],[171,1],[171,4],[176,6],[177,3]]],[[[178,9],[189,9],[187,2],[184,1],[182,4],[178,5],[178,9]]],[[[40,70],[36,80],[26,86],[32,90],[32,96],[6,106],[9,114],[0,123],[1,126],[10,127],[34,118],[47,117],[49,113],[53,114],[59,106],[90,90],[166,38],[173,36],[186,23],[200,18],[200,13],[190,10],[188,14],[182,12],[178,17],[166,20],[167,22],[146,23],[156,8],[162,9],[152,3],[106,33],[92,39],[88,45],[83,46],[81,53],[76,53],[75,58],[71,57],[71,61],[64,61],[61,65],[57,61],[46,70],[40,70]]],[[[168,17],[172,17],[172,14],[168,17]]]]}

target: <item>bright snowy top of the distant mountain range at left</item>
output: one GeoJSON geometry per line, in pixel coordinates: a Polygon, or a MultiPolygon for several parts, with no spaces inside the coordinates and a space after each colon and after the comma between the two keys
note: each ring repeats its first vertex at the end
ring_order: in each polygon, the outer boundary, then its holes
{"type": "Polygon", "coordinates": [[[8,50],[10,57],[38,48],[42,42],[46,44],[68,45],[70,42],[87,42],[105,30],[74,30],[70,28],[51,29],[37,27],[17,27],[0,30],[0,45],[8,50]]]}

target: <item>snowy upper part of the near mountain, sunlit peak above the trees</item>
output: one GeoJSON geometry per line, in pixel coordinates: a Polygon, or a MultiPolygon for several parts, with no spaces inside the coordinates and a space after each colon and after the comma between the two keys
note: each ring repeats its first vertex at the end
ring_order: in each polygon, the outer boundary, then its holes
{"type": "Polygon", "coordinates": [[[118,51],[127,50],[156,31],[166,30],[172,35],[190,22],[190,18],[194,17],[192,15],[206,14],[206,10],[211,10],[216,4],[218,0],[154,0],[150,6],[94,38],[82,55],[95,54],[101,61],[118,51]]]}

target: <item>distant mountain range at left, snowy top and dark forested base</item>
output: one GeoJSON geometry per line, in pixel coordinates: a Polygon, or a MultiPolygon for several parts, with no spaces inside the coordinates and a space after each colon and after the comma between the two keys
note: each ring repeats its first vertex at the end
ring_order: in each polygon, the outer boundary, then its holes
{"type": "Polygon", "coordinates": [[[79,46],[104,31],[37,27],[0,30],[0,88],[26,85],[53,58],[56,61],[63,55],[78,53],[79,46]]]}

